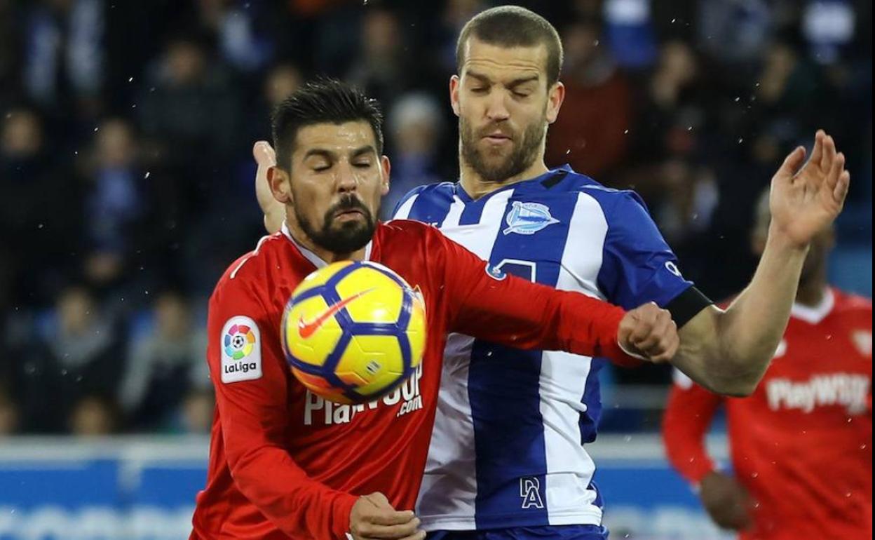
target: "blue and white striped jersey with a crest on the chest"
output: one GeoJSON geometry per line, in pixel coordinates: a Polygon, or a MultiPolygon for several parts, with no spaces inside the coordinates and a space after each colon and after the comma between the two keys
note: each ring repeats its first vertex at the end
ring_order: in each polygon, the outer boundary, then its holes
{"type": "MultiPolygon", "coordinates": [[[[422,186],[395,218],[430,223],[495,268],[627,309],[692,285],[641,199],[567,166],[472,200],[422,186]]],[[[606,360],[451,334],[416,514],[426,530],[601,523],[584,444],[606,360]]]]}

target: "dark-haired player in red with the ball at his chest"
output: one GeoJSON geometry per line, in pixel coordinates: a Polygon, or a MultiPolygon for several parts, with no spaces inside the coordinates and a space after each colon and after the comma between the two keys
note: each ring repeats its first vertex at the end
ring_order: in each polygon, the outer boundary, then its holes
{"type": "Polygon", "coordinates": [[[286,225],[232,263],[210,298],[207,359],[217,411],[192,538],[323,540],[347,531],[363,540],[423,538],[413,513],[395,508],[416,502],[446,333],[623,363],[636,362],[624,350],[651,361],[676,353],[676,326],[655,305],[624,313],[503,276],[436,228],[376,224],[389,172],[381,115],[352,88],[324,81],[298,90],[275,112],[274,139],[278,164],[269,179],[286,205],[286,225]],[[290,375],[280,346],[291,291],[311,271],[344,259],[392,268],[419,287],[428,314],[422,368],[374,403],[312,395],[290,375]],[[223,345],[235,333],[255,344],[239,359],[223,345]],[[403,407],[413,399],[422,407],[403,407]]]}

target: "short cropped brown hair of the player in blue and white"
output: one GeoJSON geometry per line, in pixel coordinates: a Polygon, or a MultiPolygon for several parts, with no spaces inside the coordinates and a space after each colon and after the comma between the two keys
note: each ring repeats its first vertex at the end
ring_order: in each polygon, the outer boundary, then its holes
{"type": "Polygon", "coordinates": [[[462,74],[462,65],[465,63],[465,44],[472,37],[503,47],[547,46],[547,88],[559,81],[559,72],[562,70],[562,40],[559,39],[556,28],[535,11],[518,5],[501,5],[475,15],[458,35],[458,74],[462,74]]]}

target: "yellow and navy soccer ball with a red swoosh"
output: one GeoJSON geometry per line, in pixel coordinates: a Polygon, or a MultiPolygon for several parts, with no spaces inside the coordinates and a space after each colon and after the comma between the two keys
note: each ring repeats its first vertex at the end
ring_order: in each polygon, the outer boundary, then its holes
{"type": "Polygon", "coordinates": [[[381,264],[333,263],[292,292],[280,333],[291,372],[307,389],[363,403],[388,394],[422,361],[425,305],[381,264]]]}

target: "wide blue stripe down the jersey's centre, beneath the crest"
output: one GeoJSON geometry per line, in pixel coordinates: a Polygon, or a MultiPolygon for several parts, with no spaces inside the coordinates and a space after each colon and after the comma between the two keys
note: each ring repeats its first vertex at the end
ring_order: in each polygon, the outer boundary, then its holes
{"type": "MultiPolygon", "coordinates": [[[[514,190],[502,223],[507,222],[507,212],[514,201],[544,204],[559,222],[549,223],[532,235],[499,231],[489,262],[493,265],[506,259],[535,262],[535,281],[555,287],[577,198],[567,194],[545,198],[542,186],[535,187],[540,193],[514,190]]],[[[512,273],[529,271],[528,266],[513,263],[503,268],[512,273]]],[[[547,458],[540,410],[541,360],[541,351],[474,341],[468,397],[477,451],[478,529],[549,523],[544,480],[547,458]],[[523,482],[529,488],[533,483],[538,485],[539,493],[536,496],[528,493],[527,500],[522,493],[523,482]]]]}

